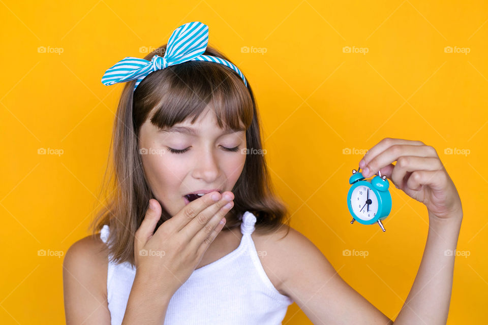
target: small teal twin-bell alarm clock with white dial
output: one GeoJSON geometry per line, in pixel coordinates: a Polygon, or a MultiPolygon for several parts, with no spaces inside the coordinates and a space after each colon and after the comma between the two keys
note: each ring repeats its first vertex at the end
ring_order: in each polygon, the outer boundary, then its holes
{"type": "Polygon", "coordinates": [[[362,224],[378,223],[383,231],[385,228],[382,220],[390,214],[391,211],[391,194],[388,191],[389,183],[386,176],[375,176],[371,182],[364,180],[364,176],[355,169],[352,170],[352,176],[349,178],[351,188],[347,193],[347,207],[353,219],[362,224]]]}

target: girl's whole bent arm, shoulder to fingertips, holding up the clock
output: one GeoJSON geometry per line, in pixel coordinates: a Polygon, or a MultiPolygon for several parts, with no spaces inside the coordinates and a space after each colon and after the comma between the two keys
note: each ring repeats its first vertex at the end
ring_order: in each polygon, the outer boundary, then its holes
{"type": "MultiPolygon", "coordinates": [[[[359,166],[364,177],[381,171],[428,209],[429,233],[422,261],[394,323],[445,324],[463,212],[436,150],[419,141],[386,138],[369,150],[359,166]],[[394,161],[396,165],[391,164],[394,161]]],[[[268,250],[268,256],[284,256],[281,267],[287,272],[281,274],[281,288],[314,324],[393,323],[349,286],[337,273],[340,269],[334,270],[321,251],[297,231],[292,230],[280,245],[268,250]]]]}

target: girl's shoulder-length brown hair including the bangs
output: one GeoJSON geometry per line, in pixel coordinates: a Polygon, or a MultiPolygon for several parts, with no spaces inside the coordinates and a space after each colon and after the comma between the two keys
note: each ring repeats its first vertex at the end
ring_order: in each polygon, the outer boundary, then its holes
{"type": "MultiPolygon", "coordinates": [[[[166,45],[147,54],[162,56],[166,45]]],[[[207,46],[205,55],[230,61],[207,46]]],[[[126,82],[115,115],[110,148],[112,160],[107,164],[100,196],[107,205],[98,211],[90,228],[97,235],[108,224],[109,256],[115,263],[134,265],[134,234],[149,206],[153,192],[146,182],[139,154],[139,129],[147,118],[160,128],[171,127],[200,116],[212,104],[221,128],[246,127],[247,148],[261,150],[261,130],[251,86],[223,64],[209,61],[187,61],[150,73],[133,91],[135,80],[126,82]],[[112,164],[110,164],[112,163],[112,164]],[[108,169],[110,168],[110,172],[108,169]],[[109,177],[107,177],[109,175],[109,177]]],[[[256,152],[256,151],[254,151],[256,152]]],[[[261,151],[257,151],[261,152],[261,151]]],[[[286,206],[273,193],[264,155],[247,154],[243,170],[232,189],[234,207],[228,213],[226,229],[241,223],[239,215],[249,211],[256,216],[256,232],[277,231],[288,213],[286,206]]],[[[156,229],[171,218],[163,207],[156,229]]],[[[289,218],[285,220],[289,231],[289,218]]],[[[288,232],[287,231],[287,232],[288,232]]]]}

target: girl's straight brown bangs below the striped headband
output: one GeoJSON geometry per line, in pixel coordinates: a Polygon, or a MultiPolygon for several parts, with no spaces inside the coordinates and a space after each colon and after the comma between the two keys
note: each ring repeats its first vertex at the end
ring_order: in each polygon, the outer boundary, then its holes
{"type": "Polygon", "coordinates": [[[249,129],[253,119],[254,104],[248,88],[235,72],[219,63],[176,64],[149,74],[138,90],[144,93],[141,103],[149,108],[150,122],[158,128],[189,118],[193,124],[209,105],[222,129],[239,129],[242,124],[249,129]]]}

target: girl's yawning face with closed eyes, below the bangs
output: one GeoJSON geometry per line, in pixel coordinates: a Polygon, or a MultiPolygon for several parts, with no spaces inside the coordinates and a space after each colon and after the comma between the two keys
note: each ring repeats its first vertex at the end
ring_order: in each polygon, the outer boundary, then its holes
{"type": "Polygon", "coordinates": [[[142,124],[139,153],[144,174],[155,199],[171,216],[188,203],[188,193],[232,190],[246,160],[246,129],[241,126],[232,131],[220,128],[209,106],[194,124],[185,120],[165,131],[149,119],[142,124]]]}

